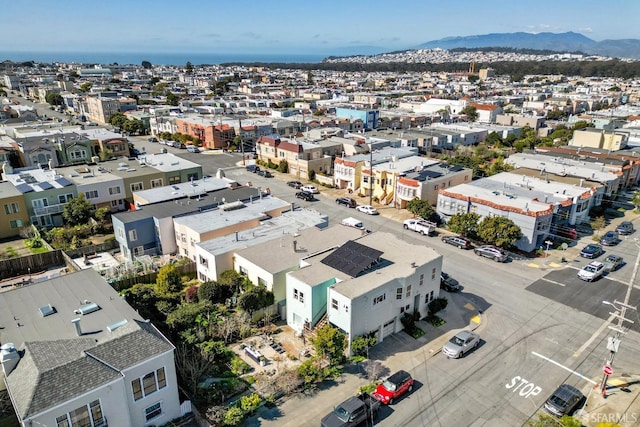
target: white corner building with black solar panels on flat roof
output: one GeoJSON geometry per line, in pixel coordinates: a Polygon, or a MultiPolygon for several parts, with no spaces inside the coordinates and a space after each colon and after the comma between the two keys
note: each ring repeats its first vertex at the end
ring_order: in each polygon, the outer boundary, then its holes
{"type": "Polygon", "coordinates": [[[287,324],[302,332],[326,317],[349,346],[369,333],[383,341],[403,329],[405,313],[426,316],[439,295],[441,271],[442,255],[392,234],[349,240],[304,258],[287,273],[287,324]]]}

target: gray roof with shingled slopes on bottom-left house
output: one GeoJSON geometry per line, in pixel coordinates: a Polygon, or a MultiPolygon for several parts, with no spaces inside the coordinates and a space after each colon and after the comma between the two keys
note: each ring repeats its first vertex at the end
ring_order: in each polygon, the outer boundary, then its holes
{"type": "Polygon", "coordinates": [[[122,370],[173,350],[95,270],[0,293],[0,325],[2,342],[13,342],[21,356],[7,384],[23,419],[122,378],[122,370]],[[100,310],[78,314],[85,298],[100,310]],[[42,317],[38,308],[46,304],[56,311],[42,317]],[[81,319],[82,336],[76,335],[74,318],[81,319]],[[107,327],[120,320],[126,323],[115,330],[107,327]]]}

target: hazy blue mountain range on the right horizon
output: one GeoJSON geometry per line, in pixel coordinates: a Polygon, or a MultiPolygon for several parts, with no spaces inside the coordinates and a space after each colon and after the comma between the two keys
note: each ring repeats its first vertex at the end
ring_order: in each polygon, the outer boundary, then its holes
{"type": "Polygon", "coordinates": [[[446,37],[422,43],[415,49],[455,49],[506,47],[513,49],[551,50],[554,52],[582,52],[614,58],[640,59],[640,40],[595,41],[572,31],[566,33],[491,33],[464,37],[446,37]]]}

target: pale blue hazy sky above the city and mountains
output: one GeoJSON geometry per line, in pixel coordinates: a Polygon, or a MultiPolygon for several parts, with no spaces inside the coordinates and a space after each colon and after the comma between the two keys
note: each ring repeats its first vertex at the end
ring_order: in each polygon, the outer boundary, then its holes
{"type": "Polygon", "coordinates": [[[3,0],[4,51],[332,53],[450,36],[640,38],[639,0],[3,0]]]}

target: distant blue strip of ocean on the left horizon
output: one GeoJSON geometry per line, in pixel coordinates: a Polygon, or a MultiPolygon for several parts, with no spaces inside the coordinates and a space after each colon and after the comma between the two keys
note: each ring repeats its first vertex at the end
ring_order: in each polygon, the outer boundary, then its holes
{"type": "Polygon", "coordinates": [[[318,63],[329,54],[286,54],[286,53],[182,53],[182,52],[4,52],[0,51],[0,62],[35,61],[42,63],[77,62],[81,64],[140,65],[149,61],[154,65],[225,64],[229,62],[279,62],[318,63]]]}

